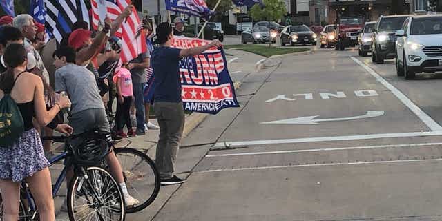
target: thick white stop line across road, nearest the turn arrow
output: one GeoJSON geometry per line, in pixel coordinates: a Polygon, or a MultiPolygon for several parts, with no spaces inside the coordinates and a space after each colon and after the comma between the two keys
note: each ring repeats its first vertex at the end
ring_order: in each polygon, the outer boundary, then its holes
{"type": "Polygon", "coordinates": [[[442,131],[410,132],[410,133],[378,133],[378,134],[349,135],[349,136],[336,136],[336,137],[306,137],[306,138],[277,139],[277,140],[218,142],[215,145],[213,145],[213,148],[211,148],[211,150],[221,149],[226,146],[235,147],[235,146],[253,146],[253,145],[265,145],[265,144],[297,144],[297,143],[306,143],[306,142],[370,140],[370,139],[380,139],[380,138],[425,137],[425,136],[436,136],[436,135],[442,135],[442,131]]]}

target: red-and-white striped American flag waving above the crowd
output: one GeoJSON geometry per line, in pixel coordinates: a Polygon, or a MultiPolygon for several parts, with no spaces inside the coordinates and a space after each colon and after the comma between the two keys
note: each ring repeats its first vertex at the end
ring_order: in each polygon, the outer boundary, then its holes
{"type": "MultiPolygon", "coordinates": [[[[100,22],[97,1],[99,0],[90,1],[92,5],[92,24],[95,29],[98,28],[100,22]]],[[[131,4],[131,1],[129,0],[104,1],[106,1],[107,16],[112,21],[124,11],[124,8],[131,4]]],[[[140,27],[142,27],[142,23],[134,8],[132,14],[123,22],[122,28],[120,28],[116,34],[117,37],[122,39],[122,52],[120,53],[122,63],[131,61],[141,53],[147,51],[146,36],[144,35],[144,32],[141,32],[141,35],[137,36],[137,30],[140,30],[140,27]]]]}

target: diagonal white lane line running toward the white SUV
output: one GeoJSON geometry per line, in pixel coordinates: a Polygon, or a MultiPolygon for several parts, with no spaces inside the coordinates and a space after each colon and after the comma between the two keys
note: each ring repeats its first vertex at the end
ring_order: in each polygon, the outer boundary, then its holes
{"type": "Polygon", "coordinates": [[[410,108],[410,110],[417,116],[421,121],[426,124],[432,131],[442,131],[442,126],[439,125],[434,119],[432,119],[427,113],[423,112],[421,108],[419,108],[416,104],[414,104],[407,96],[405,96],[400,90],[392,86],[392,84],[388,83],[381,77],[381,75],[378,75],[372,68],[369,68],[369,66],[363,64],[362,61],[359,61],[355,57],[351,57],[354,62],[362,66],[367,72],[375,77],[383,86],[388,88],[407,108],[410,108]]]}

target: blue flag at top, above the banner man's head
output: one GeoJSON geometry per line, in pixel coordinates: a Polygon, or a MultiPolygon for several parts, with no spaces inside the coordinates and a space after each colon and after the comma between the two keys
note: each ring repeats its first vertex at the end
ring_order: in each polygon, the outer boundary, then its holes
{"type": "Polygon", "coordinates": [[[193,15],[209,20],[213,15],[204,0],[165,0],[166,9],[173,12],[180,12],[186,15],[193,15]]]}

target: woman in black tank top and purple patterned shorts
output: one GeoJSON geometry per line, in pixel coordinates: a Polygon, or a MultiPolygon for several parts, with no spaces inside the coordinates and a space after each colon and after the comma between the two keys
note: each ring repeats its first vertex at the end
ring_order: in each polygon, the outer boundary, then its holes
{"type": "Polygon", "coordinates": [[[61,108],[70,106],[64,97],[46,111],[41,79],[26,70],[26,50],[22,44],[10,44],[3,56],[8,69],[0,77],[0,97],[11,95],[23,117],[25,131],[12,146],[0,144],[0,189],[3,220],[18,220],[19,185],[26,179],[39,209],[40,220],[55,220],[49,162],[44,156],[39,134],[32,125],[35,117],[42,126],[48,124],[61,108]],[[49,193],[49,194],[48,194],[49,193]]]}

